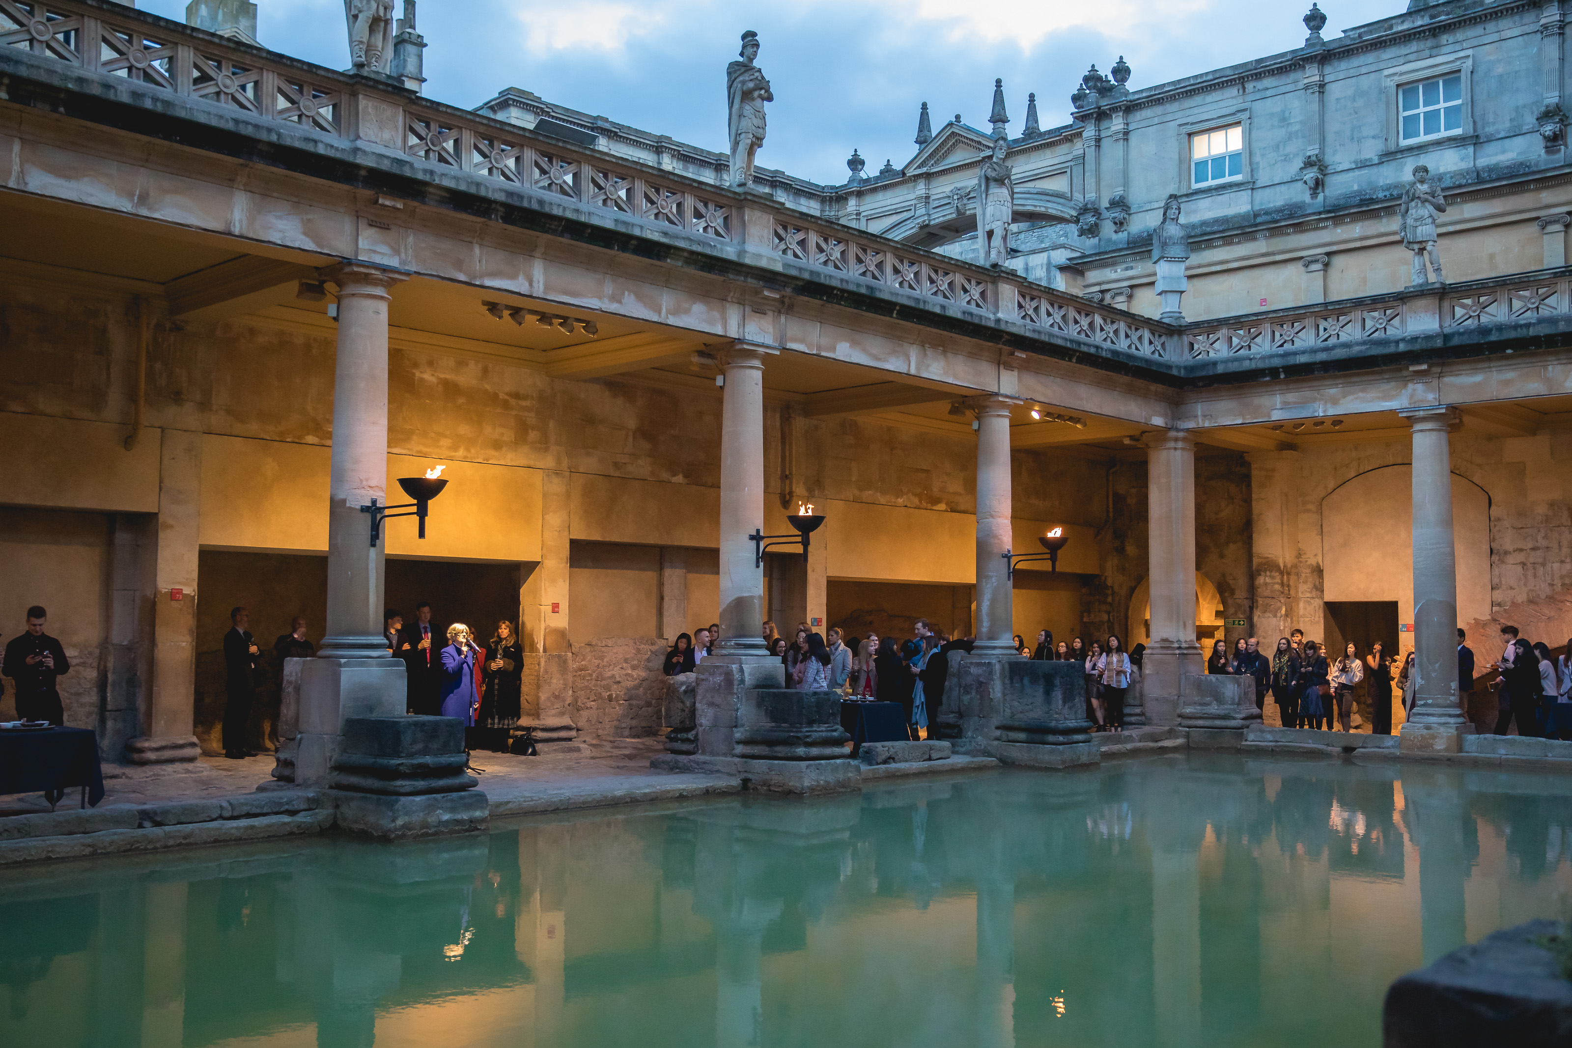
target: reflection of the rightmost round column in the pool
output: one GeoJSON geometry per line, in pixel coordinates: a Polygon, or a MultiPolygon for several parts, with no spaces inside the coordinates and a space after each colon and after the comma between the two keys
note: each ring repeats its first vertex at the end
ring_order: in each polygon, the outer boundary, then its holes
{"type": "Polygon", "coordinates": [[[1443,776],[1404,776],[1409,834],[1420,850],[1420,935],[1429,965],[1468,941],[1464,878],[1473,858],[1470,815],[1443,776]]]}

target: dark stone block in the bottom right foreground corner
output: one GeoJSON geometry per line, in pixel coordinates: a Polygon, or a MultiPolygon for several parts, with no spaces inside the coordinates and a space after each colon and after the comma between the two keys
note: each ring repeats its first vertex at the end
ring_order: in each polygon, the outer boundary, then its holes
{"type": "Polygon", "coordinates": [[[1530,921],[1464,946],[1387,990],[1385,1048],[1561,1048],[1572,1043],[1572,982],[1534,943],[1555,921],[1530,921]]]}

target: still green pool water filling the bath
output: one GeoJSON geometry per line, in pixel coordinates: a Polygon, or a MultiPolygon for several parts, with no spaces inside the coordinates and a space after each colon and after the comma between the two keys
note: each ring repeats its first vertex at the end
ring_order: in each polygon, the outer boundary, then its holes
{"type": "Polygon", "coordinates": [[[1237,757],[0,875],[0,1045],[1379,1045],[1572,779],[1237,757]]]}

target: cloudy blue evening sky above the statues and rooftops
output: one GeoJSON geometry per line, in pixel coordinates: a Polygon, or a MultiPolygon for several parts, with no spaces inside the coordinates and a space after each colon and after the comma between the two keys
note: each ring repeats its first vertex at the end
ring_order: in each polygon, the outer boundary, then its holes
{"type": "MultiPolygon", "coordinates": [[[[185,0],[137,6],[184,20],[185,0]]],[[[1322,35],[1405,6],[1328,0],[1322,35]]],[[[434,99],[472,108],[519,86],[715,151],[726,143],[726,63],[742,30],[756,30],[775,90],[759,163],[843,182],[854,146],[869,171],[909,159],[924,101],[935,129],[956,113],[986,127],[1003,77],[1011,134],[1028,91],[1052,127],[1069,119],[1089,63],[1107,72],[1124,55],[1130,88],[1151,86],[1298,47],[1308,9],[1308,0],[420,0],[418,25],[434,99]]],[[[258,0],[258,36],[286,55],[349,64],[343,0],[258,0]]]]}

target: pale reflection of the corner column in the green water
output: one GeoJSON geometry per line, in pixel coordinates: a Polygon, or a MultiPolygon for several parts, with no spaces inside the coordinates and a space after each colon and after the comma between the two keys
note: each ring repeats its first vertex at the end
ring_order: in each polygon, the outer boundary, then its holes
{"type": "Polygon", "coordinates": [[[1199,1045],[1201,875],[1193,852],[1152,852],[1152,1004],[1159,1045],[1199,1045]]]}

